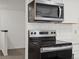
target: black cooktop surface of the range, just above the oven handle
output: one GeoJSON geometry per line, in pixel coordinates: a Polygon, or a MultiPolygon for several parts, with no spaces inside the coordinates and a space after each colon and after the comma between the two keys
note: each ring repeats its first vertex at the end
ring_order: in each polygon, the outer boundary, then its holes
{"type": "Polygon", "coordinates": [[[66,42],[66,41],[60,41],[60,40],[56,40],[56,41],[41,41],[41,42],[32,42],[32,44],[40,46],[40,47],[57,47],[57,46],[68,46],[68,45],[72,45],[71,42],[66,42]]]}

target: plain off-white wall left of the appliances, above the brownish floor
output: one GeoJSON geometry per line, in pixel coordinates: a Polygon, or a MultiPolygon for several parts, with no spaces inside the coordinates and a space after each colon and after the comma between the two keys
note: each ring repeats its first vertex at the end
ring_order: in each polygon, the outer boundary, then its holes
{"type": "Polygon", "coordinates": [[[23,0],[0,0],[0,29],[8,30],[8,48],[24,48],[23,0]]]}

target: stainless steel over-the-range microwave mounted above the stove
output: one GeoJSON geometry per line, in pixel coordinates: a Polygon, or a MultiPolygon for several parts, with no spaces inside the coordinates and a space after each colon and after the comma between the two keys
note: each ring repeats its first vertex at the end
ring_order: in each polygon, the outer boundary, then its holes
{"type": "Polygon", "coordinates": [[[64,20],[64,4],[52,0],[34,0],[28,7],[29,21],[53,21],[64,20]]]}

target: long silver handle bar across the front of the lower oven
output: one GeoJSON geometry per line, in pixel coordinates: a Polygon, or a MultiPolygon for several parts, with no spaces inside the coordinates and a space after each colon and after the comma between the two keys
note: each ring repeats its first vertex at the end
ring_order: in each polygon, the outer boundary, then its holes
{"type": "Polygon", "coordinates": [[[58,51],[58,50],[65,50],[65,49],[72,49],[72,46],[61,46],[61,47],[45,47],[40,48],[40,52],[51,52],[51,51],[58,51]]]}

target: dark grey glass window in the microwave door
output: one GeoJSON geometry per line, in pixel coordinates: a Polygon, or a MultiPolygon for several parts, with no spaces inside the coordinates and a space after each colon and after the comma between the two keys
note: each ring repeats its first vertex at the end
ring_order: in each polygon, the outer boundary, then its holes
{"type": "Polygon", "coordinates": [[[36,15],[47,18],[58,18],[59,7],[45,4],[37,4],[36,15]]]}

